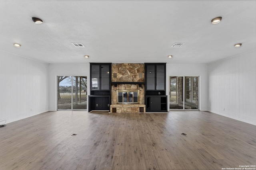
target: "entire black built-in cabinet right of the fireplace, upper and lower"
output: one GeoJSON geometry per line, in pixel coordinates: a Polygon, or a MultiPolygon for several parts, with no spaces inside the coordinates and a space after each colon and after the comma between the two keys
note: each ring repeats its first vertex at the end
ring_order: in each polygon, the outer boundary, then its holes
{"type": "Polygon", "coordinates": [[[147,112],[167,112],[166,63],[145,63],[147,112]]]}

